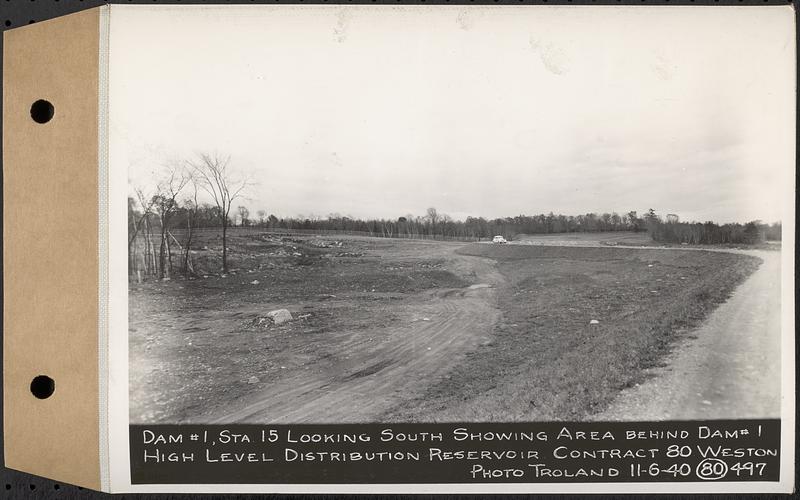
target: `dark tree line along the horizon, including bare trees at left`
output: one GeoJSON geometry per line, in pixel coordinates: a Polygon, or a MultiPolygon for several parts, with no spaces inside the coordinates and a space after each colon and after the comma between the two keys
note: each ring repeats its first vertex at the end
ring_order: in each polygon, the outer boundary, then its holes
{"type": "Polygon", "coordinates": [[[518,234],[610,231],[647,231],[656,242],[686,244],[754,244],[781,238],[780,223],[680,222],[675,214],[661,217],[653,209],[642,217],[631,211],[623,215],[549,213],[465,220],[453,219],[434,207],[428,208],[424,215],[391,219],[340,214],[277,217],[264,209],[253,214],[243,203],[250,183],[229,171],[229,163],[229,158],[200,155],[166,168],[151,190],[134,187],[133,195],[128,198],[128,269],[134,279],[194,275],[192,245],[197,246],[201,230],[204,234],[219,232],[222,248],[203,249],[209,250],[212,257],[218,255],[219,267],[222,273],[227,273],[231,227],[456,241],[481,241],[496,235],[513,240],[518,234]]]}

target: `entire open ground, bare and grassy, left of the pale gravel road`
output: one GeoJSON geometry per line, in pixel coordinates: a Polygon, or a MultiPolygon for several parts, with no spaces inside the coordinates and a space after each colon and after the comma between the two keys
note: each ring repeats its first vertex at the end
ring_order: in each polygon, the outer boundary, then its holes
{"type": "Polygon", "coordinates": [[[220,276],[218,246],[198,242],[205,278],[131,285],[134,423],[584,418],[760,262],[249,235],[220,276]],[[259,324],[278,308],[295,320],[259,324]]]}

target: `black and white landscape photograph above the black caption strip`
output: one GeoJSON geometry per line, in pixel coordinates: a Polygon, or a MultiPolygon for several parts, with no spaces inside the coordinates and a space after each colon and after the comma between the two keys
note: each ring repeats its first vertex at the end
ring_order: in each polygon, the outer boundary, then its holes
{"type": "Polygon", "coordinates": [[[112,16],[130,423],[781,418],[790,10],[112,16]]]}

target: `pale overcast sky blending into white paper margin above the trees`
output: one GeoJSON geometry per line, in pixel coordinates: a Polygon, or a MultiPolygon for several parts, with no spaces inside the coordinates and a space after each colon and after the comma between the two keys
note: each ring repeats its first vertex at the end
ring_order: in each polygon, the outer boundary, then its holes
{"type": "MultiPolygon", "coordinates": [[[[195,6],[111,15],[110,158],[210,152],[278,216],[781,219],[789,7],[195,6]]],[[[784,212],[785,213],[785,212],[784,212]]]]}

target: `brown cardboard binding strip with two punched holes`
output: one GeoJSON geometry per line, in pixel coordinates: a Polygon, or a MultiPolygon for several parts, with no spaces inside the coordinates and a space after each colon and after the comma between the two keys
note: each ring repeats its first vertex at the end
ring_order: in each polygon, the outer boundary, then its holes
{"type": "Polygon", "coordinates": [[[99,10],[7,31],[3,50],[5,461],[100,488],[99,10]],[[55,107],[46,124],[31,104],[55,107]],[[33,377],[55,380],[36,399],[33,377]]]}

